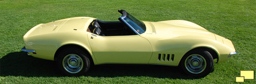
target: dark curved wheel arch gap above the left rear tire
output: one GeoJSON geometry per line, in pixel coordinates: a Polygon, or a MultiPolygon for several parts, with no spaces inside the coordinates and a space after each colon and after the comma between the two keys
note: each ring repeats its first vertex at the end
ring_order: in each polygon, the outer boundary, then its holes
{"type": "Polygon", "coordinates": [[[82,51],[84,51],[86,54],[88,54],[90,60],[92,60],[91,64],[94,65],[94,60],[93,60],[93,58],[92,58],[92,53],[90,53],[90,52],[88,51],[88,49],[86,49],[86,48],[84,48],[84,47],[82,47],[81,45],[78,45],[78,44],[65,44],[65,45],[62,45],[62,46],[59,47],[59,48],[57,49],[57,51],[55,52],[55,54],[54,54],[54,60],[56,60],[56,58],[58,57],[58,54],[59,54],[63,49],[65,49],[65,48],[71,48],[71,47],[79,48],[79,49],[81,49],[82,51]]]}

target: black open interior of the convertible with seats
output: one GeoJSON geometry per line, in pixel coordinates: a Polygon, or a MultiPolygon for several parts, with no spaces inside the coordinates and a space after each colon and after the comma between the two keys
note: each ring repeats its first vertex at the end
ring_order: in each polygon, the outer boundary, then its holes
{"type": "Polygon", "coordinates": [[[137,35],[131,28],[120,21],[105,22],[98,19],[90,23],[87,31],[100,36],[137,35]]]}

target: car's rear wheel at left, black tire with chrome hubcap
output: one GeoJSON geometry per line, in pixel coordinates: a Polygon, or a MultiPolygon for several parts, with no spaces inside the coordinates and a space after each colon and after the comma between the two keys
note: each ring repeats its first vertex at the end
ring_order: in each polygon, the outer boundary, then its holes
{"type": "Polygon", "coordinates": [[[90,69],[88,54],[78,48],[63,49],[56,62],[60,71],[68,76],[84,75],[90,69]]]}

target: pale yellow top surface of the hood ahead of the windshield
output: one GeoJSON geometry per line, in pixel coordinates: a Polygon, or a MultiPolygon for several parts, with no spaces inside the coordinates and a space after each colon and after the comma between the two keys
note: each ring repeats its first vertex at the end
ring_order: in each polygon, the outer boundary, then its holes
{"type": "MultiPolygon", "coordinates": [[[[162,39],[174,37],[205,37],[216,40],[215,34],[205,28],[185,20],[167,20],[162,22],[144,22],[147,30],[144,34],[152,34],[162,39]]],[[[142,35],[143,36],[143,35],[142,35]]]]}

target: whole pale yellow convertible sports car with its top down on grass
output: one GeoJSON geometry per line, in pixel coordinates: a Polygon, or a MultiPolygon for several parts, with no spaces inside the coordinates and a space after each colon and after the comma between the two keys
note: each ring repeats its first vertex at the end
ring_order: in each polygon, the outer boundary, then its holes
{"type": "Polygon", "coordinates": [[[185,20],[146,22],[125,10],[119,21],[75,17],[38,24],[24,36],[28,55],[54,60],[61,72],[84,75],[92,65],[156,64],[179,66],[205,77],[216,62],[229,60],[232,41],[185,20]]]}

